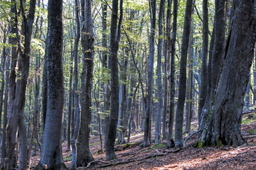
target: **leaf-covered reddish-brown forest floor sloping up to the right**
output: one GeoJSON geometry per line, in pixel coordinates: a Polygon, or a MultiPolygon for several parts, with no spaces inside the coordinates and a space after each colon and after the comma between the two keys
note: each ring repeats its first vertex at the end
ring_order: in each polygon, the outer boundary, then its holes
{"type": "MultiPolygon", "coordinates": [[[[192,130],[196,132],[198,123],[192,122],[192,130]]],[[[192,132],[193,133],[193,132],[192,132]]],[[[240,147],[203,147],[193,148],[191,144],[198,140],[193,135],[181,150],[166,149],[165,140],[161,145],[143,148],[143,132],[134,132],[130,145],[117,146],[118,159],[107,162],[105,153],[101,151],[100,137],[90,137],[90,151],[95,159],[93,164],[79,169],[256,169],[256,111],[243,114],[242,135],[247,145],[240,147]]],[[[154,135],[152,135],[153,137],[154,135]]],[[[188,136],[188,134],[186,134],[188,136]]],[[[63,157],[67,167],[71,163],[71,152],[66,151],[63,144],[63,157]]],[[[32,158],[32,166],[38,164],[39,156],[32,158]]]]}

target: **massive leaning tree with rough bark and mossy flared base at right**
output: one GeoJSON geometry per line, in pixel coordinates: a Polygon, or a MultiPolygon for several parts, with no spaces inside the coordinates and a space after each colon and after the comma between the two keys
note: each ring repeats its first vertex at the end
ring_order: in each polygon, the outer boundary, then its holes
{"type": "Polygon", "coordinates": [[[213,97],[207,127],[198,147],[244,144],[242,107],[256,41],[255,1],[234,1],[234,15],[223,56],[223,72],[213,97]]]}

